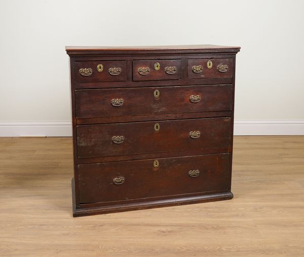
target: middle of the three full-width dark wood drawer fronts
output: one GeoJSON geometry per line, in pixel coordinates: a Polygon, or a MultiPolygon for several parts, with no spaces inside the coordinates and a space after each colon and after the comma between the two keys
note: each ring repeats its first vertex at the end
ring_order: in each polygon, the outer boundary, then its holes
{"type": "Polygon", "coordinates": [[[78,158],[226,147],[230,131],[230,117],[80,125],[78,158]]]}

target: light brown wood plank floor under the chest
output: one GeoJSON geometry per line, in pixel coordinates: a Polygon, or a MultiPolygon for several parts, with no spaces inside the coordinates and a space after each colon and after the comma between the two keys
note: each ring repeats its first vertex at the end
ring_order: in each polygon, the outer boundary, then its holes
{"type": "Polygon", "coordinates": [[[0,256],[304,256],[304,136],[235,137],[235,198],[73,218],[71,138],[0,138],[0,256]]]}

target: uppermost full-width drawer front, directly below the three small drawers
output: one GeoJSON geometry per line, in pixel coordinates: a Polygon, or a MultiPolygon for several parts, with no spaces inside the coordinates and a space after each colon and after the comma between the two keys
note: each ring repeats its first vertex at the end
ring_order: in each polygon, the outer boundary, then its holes
{"type": "Polygon", "coordinates": [[[232,85],[76,90],[76,117],[230,111],[232,85]]]}

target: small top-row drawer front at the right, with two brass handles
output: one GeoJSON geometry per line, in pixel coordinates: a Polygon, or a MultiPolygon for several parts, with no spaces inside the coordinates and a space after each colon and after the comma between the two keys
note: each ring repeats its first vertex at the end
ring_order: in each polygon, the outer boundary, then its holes
{"type": "Polygon", "coordinates": [[[188,59],[188,79],[232,78],[233,59],[188,59]]]}

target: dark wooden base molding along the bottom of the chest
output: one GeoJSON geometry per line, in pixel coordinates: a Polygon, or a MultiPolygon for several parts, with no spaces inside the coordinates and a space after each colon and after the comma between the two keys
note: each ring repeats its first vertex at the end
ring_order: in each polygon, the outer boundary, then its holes
{"type": "Polygon", "coordinates": [[[75,205],[74,178],[72,178],[72,198],[73,198],[72,200],[73,217],[80,217],[80,216],[88,216],[88,215],[96,215],[96,214],[106,214],[112,212],[123,212],[123,211],[131,211],[131,210],[142,210],[149,208],[160,208],[160,207],[169,207],[176,205],[229,200],[233,198],[233,194],[232,192],[226,192],[226,193],[202,195],[202,196],[194,196],[194,197],[183,197],[183,198],[165,199],[158,201],[129,203],[129,204],[112,205],[112,206],[104,206],[104,207],[94,207],[87,209],[77,209],[75,205]]]}

